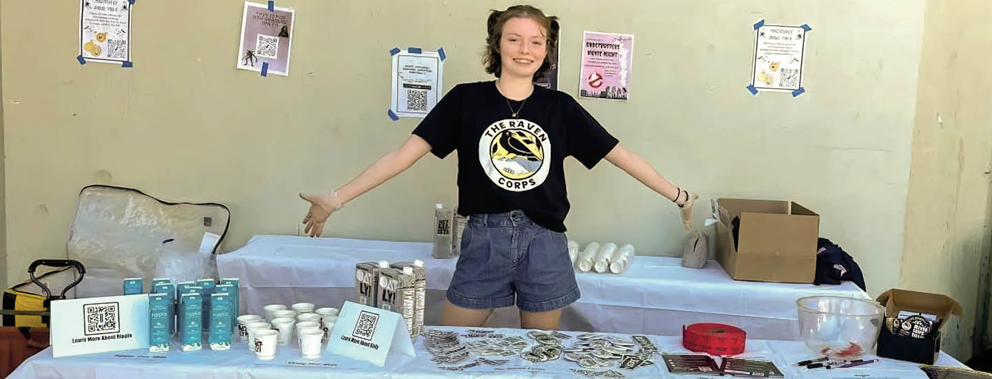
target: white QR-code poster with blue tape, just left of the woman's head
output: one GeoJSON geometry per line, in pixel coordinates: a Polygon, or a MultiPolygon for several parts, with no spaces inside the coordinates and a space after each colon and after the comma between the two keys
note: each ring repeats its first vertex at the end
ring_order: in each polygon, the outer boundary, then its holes
{"type": "Polygon", "coordinates": [[[443,72],[444,61],[435,52],[414,48],[394,54],[389,109],[399,117],[426,117],[441,97],[443,72]]]}

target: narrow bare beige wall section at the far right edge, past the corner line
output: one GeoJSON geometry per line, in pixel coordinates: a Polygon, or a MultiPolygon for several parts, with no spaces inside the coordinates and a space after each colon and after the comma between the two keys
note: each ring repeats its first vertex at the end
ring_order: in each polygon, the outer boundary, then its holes
{"type": "Polygon", "coordinates": [[[968,357],[992,249],[992,3],[930,0],[925,19],[899,283],[961,303],[964,315],[947,325],[943,344],[968,357]]]}

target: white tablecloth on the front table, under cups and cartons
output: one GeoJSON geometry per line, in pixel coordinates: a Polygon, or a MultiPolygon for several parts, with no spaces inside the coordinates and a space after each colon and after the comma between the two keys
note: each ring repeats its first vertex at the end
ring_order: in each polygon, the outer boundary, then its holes
{"type": "MultiPolygon", "coordinates": [[[[464,331],[465,328],[437,327],[439,329],[464,331]]],[[[526,335],[521,329],[498,329],[497,332],[509,335],[526,335]]],[[[574,333],[572,333],[574,334],[574,333]]],[[[626,335],[619,335],[624,336],[626,335]]],[[[648,336],[655,346],[668,353],[686,353],[680,337],[648,336]]],[[[533,344],[534,340],[525,337],[533,344]]],[[[463,340],[472,340],[462,338],[463,340]]],[[[473,338],[477,339],[477,338],[473,338]]],[[[564,340],[565,346],[574,343],[575,338],[564,340]]],[[[581,377],[569,371],[578,365],[559,358],[543,363],[530,363],[520,356],[491,359],[509,359],[500,366],[479,365],[463,371],[447,371],[438,368],[431,361],[433,355],[424,346],[424,338],[418,338],[414,347],[416,358],[390,356],[383,367],[368,362],[355,361],[327,352],[320,359],[304,360],[295,346],[279,346],[276,358],[259,360],[250,352],[245,343],[235,342],[231,350],[212,351],[209,349],[194,352],[179,352],[175,349],[167,354],[152,355],[148,349],[123,352],[96,353],[89,355],[52,357],[52,348],[46,349],[25,361],[9,378],[572,378],[581,377]]],[[[878,363],[846,369],[806,369],[795,363],[815,357],[815,353],[799,341],[748,340],[747,349],[740,357],[770,359],[783,370],[787,378],[899,378],[926,379],[927,375],[915,363],[881,359],[878,363]]],[[[868,356],[864,359],[871,359],[868,356]]],[[[463,363],[471,362],[469,359],[463,363]]],[[[655,364],[635,370],[612,368],[626,378],[686,378],[668,372],[665,363],[656,356],[655,364]]],[[[616,365],[616,361],[613,361],[616,365]]],[[[940,353],[937,365],[962,366],[954,358],[940,353]]],[[[460,365],[460,364],[459,364],[460,365]]],[[[444,365],[456,367],[458,365],[444,365]]],[[[695,377],[695,376],[691,376],[695,377]]]]}

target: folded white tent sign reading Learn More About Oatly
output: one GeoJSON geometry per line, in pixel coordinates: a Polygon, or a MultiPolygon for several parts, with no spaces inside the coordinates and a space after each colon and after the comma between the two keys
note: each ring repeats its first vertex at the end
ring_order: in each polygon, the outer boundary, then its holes
{"type": "Polygon", "coordinates": [[[330,331],[327,352],[382,366],[390,352],[416,357],[414,343],[395,312],[344,302],[330,331]]]}

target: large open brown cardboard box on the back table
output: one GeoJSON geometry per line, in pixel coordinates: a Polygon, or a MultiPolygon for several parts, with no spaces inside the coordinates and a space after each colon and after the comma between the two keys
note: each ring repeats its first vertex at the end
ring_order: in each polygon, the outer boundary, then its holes
{"type": "Polygon", "coordinates": [[[720,198],[716,260],[735,280],[812,283],[819,215],[793,201],[720,198]],[[740,217],[734,247],[732,220],[740,217]]]}

